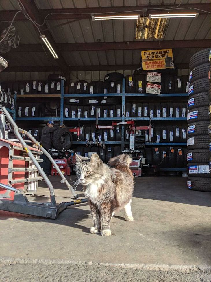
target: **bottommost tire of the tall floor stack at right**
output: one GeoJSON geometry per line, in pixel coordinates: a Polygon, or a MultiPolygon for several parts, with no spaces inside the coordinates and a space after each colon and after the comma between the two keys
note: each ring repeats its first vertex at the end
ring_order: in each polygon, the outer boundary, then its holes
{"type": "Polygon", "coordinates": [[[211,192],[211,178],[188,177],[187,186],[190,190],[211,192]]]}

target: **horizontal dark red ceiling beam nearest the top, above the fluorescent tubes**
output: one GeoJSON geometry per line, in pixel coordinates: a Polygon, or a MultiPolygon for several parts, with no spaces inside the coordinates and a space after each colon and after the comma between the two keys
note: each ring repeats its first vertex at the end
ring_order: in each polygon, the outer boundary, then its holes
{"type": "MultiPolygon", "coordinates": [[[[22,1],[22,0],[21,0],[22,1]]],[[[31,3],[34,1],[30,1],[31,3]]],[[[35,4],[34,4],[35,5],[35,4]]],[[[119,14],[125,14],[125,15],[131,15],[134,14],[134,12],[131,11],[137,11],[136,14],[143,14],[142,9],[147,8],[147,16],[148,14],[152,13],[159,13],[160,8],[167,8],[167,10],[163,11],[163,13],[178,13],[178,12],[199,12],[199,14],[207,14],[208,11],[211,12],[211,5],[210,3],[201,3],[201,4],[182,4],[178,8],[171,10],[173,5],[141,5],[141,6],[126,6],[126,7],[89,7],[89,8],[65,8],[65,9],[39,9],[39,14],[42,17],[42,19],[45,18],[47,14],[50,14],[47,19],[48,20],[65,20],[65,19],[81,19],[81,18],[91,18],[91,14],[94,14],[95,16],[101,15],[106,16],[109,13],[112,12],[112,15],[119,15],[119,14]],[[168,10],[169,8],[169,10],[168,10]],[[152,11],[150,9],[158,9],[157,11],[152,11]],[[203,11],[200,11],[200,10],[203,11]],[[139,10],[139,11],[138,11],[139,10]],[[124,13],[123,13],[124,12],[124,13]],[[54,14],[53,14],[54,13],[54,14]],[[108,13],[108,14],[103,14],[108,13]]],[[[175,6],[176,7],[176,6],[175,6]]],[[[38,9],[37,9],[38,10],[38,9]]],[[[162,12],[162,11],[161,11],[162,12]]],[[[8,11],[0,11],[0,21],[11,21],[16,13],[16,10],[8,10],[8,11]]],[[[24,14],[19,13],[15,20],[21,21],[26,20],[24,14]]]]}

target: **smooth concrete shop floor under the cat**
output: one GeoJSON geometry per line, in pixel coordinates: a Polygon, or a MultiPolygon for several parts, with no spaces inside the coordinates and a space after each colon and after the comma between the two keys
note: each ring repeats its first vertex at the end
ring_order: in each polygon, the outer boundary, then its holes
{"type": "MultiPolygon", "coordinates": [[[[50,179],[57,188],[57,203],[71,201],[70,192],[60,184],[59,178],[50,179]]],[[[110,237],[89,233],[92,219],[86,203],[69,207],[56,220],[0,211],[0,237],[3,238],[0,256],[57,259],[68,263],[137,264],[138,268],[153,265],[151,269],[156,271],[161,265],[166,270],[169,265],[186,269],[197,265],[199,268],[195,270],[202,267],[206,272],[209,270],[210,280],[200,281],[211,281],[211,193],[188,190],[185,177],[135,180],[134,221],[126,222],[124,213],[117,213],[111,221],[110,237]]],[[[40,182],[36,197],[29,200],[48,201],[48,194],[45,183],[40,182]]]]}

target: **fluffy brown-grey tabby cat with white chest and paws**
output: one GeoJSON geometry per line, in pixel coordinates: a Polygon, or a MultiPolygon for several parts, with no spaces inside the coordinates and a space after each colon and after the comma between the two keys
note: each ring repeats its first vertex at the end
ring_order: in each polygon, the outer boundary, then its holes
{"type": "Polygon", "coordinates": [[[97,154],[92,154],[91,158],[75,156],[78,181],[84,186],[94,222],[90,232],[110,236],[110,220],[116,210],[124,208],[125,220],[133,220],[130,204],[134,181],[129,169],[132,159],[119,155],[110,159],[112,167],[109,167],[97,154]]]}

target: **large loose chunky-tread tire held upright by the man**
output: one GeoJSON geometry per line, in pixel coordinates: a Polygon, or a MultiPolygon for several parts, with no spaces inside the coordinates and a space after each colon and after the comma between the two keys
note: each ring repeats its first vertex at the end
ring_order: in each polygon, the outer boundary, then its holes
{"type": "Polygon", "coordinates": [[[73,137],[66,128],[58,128],[53,132],[53,148],[55,150],[69,150],[72,145],[73,137]]]}

